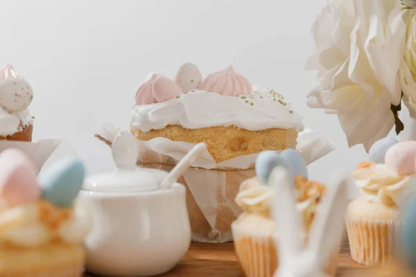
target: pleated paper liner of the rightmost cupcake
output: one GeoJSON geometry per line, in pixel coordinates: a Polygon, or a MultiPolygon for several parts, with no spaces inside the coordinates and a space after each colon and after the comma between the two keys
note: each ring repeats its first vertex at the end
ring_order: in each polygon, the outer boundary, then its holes
{"type": "Polygon", "coordinates": [[[346,217],[345,224],[351,257],[355,262],[367,266],[390,262],[395,251],[395,232],[401,222],[346,217]]]}

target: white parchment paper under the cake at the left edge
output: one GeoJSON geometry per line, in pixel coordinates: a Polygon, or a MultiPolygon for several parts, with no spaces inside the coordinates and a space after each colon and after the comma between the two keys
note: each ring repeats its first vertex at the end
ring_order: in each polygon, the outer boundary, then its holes
{"type": "Polygon", "coordinates": [[[0,152],[8,148],[17,148],[23,151],[35,165],[39,173],[51,158],[51,155],[57,150],[61,141],[56,139],[45,139],[36,143],[23,141],[0,141],[0,152]]]}

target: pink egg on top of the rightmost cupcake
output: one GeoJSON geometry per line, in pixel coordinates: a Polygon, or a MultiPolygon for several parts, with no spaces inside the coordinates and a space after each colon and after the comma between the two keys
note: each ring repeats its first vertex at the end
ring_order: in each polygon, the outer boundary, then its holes
{"type": "Polygon", "coordinates": [[[385,153],[386,168],[399,175],[413,175],[416,170],[416,141],[402,141],[385,153]]]}

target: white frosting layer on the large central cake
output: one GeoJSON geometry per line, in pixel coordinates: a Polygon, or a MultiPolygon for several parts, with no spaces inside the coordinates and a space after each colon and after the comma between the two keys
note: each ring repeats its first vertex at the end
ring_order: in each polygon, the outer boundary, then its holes
{"type": "Polygon", "coordinates": [[[235,126],[249,131],[269,128],[304,129],[302,117],[268,88],[253,87],[245,96],[223,96],[209,91],[190,91],[178,98],[132,109],[131,127],[148,132],[167,125],[186,129],[235,126]]]}

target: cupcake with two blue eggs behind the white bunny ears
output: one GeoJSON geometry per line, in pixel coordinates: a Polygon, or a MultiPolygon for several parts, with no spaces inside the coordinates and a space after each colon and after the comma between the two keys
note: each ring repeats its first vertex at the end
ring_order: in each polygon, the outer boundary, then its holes
{"type": "MultiPolygon", "coordinates": [[[[245,276],[273,276],[278,267],[278,249],[275,236],[279,235],[275,220],[271,216],[271,199],[273,190],[266,186],[268,173],[271,168],[263,161],[275,159],[279,164],[288,166],[295,177],[295,205],[302,215],[303,224],[301,237],[304,243],[308,241],[309,231],[315,217],[315,211],[324,195],[326,186],[307,179],[306,166],[300,154],[295,150],[284,150],[280,154],[263,152],[257,158],[257,177],[243,181],[236,202],[243,208],[239,218],[232,223],[234,247],[241,271],[245,276]]],[[[266,162],[269,163],[269,162],[266,162]]],[[[331,276],[336,273],[339,246],[333,249],[333,254],[324,267],[331,276]]]]}

